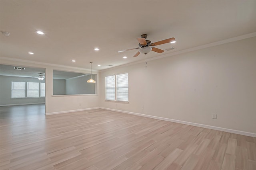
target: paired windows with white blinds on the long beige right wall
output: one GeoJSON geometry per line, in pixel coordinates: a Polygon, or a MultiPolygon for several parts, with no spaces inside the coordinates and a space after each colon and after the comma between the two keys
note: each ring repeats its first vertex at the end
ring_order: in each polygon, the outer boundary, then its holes
{"type": "Polygon", "coordinates": [[[107,76],[106,100],[128,102],[128,73],[107,76]]]}

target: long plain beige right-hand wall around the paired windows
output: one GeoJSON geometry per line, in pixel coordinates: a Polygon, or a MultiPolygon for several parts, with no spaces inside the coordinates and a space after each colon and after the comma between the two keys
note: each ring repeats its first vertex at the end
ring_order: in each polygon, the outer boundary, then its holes
{"type": "Polygon", "coordinates": [[[140,63],[104,70],[100,106],[256,133],[255,47],[253,37],[148,61],[147,68],[140,63]],[[130,102],[105,101],[105,76],[124,72],[130,102]]]}

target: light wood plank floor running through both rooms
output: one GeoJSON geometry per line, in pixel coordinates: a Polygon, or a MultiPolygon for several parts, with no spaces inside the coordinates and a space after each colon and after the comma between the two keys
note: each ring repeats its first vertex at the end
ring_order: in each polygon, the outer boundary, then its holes
{"type": "Polygon", "coordinates": [[[253,137],[104,109],[0,109],[1,170],[256,170],[253,137]]]}

